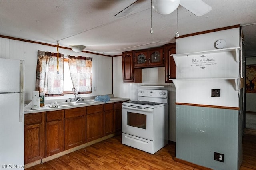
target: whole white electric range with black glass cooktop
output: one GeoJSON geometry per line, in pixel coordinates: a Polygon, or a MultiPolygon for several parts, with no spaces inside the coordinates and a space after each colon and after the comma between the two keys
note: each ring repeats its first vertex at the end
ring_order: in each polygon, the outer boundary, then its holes
{"type": "Polygon", "coordinates": [[[168,91],[139,89],[122,104],[122,144],[154,154],[168,142],[168,91]]]}

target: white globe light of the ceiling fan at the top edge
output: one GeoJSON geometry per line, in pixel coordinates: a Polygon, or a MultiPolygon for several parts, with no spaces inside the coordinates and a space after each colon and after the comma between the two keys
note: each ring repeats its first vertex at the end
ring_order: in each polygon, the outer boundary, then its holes
{"type": "Polygon", "coordinates": [[[180,0],[153,0],[152,8],[162,15],[172,13],[180,5],[180,0]]]}

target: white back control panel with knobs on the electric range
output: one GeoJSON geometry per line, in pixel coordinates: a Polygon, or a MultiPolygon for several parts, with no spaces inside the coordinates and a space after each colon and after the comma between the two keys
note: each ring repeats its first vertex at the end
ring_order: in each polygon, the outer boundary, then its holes
{"type": "Polygon", "coordinates": [[[167,90],[139,89],[138,96],[167,98],[167,90]]]}

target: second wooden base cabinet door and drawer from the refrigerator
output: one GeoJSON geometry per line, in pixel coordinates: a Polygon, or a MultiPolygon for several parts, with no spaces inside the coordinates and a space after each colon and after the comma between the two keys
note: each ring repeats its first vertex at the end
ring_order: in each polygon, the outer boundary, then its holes
{"type": "Polygon", "coordinates": [[[64,110],[46,112],[46,156],[64,150],[64,110]]]}

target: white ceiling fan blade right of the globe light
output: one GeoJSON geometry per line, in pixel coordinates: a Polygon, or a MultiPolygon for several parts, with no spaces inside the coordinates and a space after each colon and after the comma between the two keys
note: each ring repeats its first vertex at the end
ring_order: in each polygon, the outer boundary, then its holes
{"type": "Polygon", "coordinates": [[[212,7],[204,3],[202,0],[181,0],[180,5],[196,16],[202,16],[212,10],[212,7]]]}

